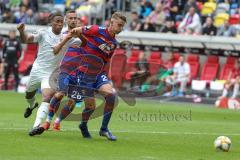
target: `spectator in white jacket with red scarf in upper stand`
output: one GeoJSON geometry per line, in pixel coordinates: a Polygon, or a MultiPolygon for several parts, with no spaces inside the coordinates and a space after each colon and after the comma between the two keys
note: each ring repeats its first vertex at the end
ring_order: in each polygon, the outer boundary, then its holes
{"type": "Polygon", "coordinates": [[[199,34],[201,31],[201,21],[199,15],[195,12],[194,7],[190,7],[183,21],[178,26],[179,33],[185,33],[192,30],[193,34],[199,34]]]}

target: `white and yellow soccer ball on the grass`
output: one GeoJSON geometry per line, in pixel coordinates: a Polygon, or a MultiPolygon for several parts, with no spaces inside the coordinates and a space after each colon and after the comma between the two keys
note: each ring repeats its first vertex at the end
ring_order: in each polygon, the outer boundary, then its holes
{"type": "Polygon", "coordinates": [[[226,136],[219,136],[214,141],[214,147],[217,150],[228,152],[231,147],[231,140],[226,136]]]}

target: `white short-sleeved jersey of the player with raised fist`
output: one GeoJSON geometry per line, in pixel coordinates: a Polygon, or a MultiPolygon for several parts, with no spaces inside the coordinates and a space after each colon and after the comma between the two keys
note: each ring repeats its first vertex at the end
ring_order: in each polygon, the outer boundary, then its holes
{"type": "Polygon", "coordinates": [[[34,42],[38,43],[37,58],[33,63],[33,69],[39,72],[52,73],[52,71],[58,66],[63,55],[54,55],[53,47],[57,45],[62,39],[62,33],[56,35],[52,32],[52,28],[39,30],[32,34],[34,42]]]}

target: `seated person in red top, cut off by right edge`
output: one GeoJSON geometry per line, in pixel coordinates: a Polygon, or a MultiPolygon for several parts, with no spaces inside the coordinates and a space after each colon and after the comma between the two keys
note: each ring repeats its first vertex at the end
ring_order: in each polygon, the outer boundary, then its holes
{"type": "Polygon", "coordinates": [[[236,98],[239,92],[240,83],[240,59],[235,63],[235,68],[230,71],[228,75],[228,80],[226,81],[223,89],[222,96],[220,98],[225,98],[228,96],[228,91],[233,87],[233,94],[231,98],[236,98]]]}

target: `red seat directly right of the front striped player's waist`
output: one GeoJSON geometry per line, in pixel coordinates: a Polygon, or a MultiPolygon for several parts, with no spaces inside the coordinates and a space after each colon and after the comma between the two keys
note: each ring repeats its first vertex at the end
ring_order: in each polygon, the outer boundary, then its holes
{"type": "Polygon", "coordinates": [[[109,77],[114,82],[114,86],[116,88],[120,88],[122,86],[126,62],[127,56],[125,53],[114,54],[111,58],[111,70],[109,72],[109,77]]]}

